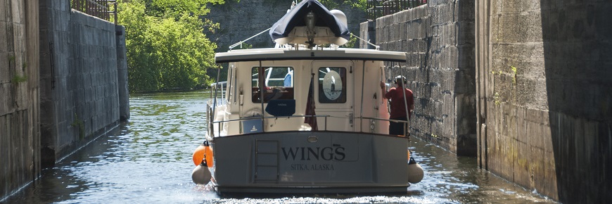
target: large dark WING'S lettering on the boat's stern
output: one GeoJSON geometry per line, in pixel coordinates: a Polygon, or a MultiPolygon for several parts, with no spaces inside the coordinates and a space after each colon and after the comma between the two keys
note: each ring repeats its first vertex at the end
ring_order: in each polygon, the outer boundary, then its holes
{"type": "Polygon", "coordinates": [[[282,147],[285,160],[344,160],[345,148],[339,144],[327,147],[282,147]]]}

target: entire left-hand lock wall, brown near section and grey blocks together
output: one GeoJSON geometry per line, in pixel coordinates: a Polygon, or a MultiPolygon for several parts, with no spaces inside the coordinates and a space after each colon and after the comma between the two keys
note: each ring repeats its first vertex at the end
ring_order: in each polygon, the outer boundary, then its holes
{"type": "Polygon", "coordinates": [[[0,202],[129,118],[123,31],[68,0],[0,2],[0,202]]]}

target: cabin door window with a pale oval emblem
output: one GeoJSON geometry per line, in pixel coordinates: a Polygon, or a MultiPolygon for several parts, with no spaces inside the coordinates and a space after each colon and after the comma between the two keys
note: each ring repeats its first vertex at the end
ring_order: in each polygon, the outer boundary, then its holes
{"type": "Polygon", "coordinates": [[[319,103],[346,103],[346,68],[319,68],[319,103]]]}

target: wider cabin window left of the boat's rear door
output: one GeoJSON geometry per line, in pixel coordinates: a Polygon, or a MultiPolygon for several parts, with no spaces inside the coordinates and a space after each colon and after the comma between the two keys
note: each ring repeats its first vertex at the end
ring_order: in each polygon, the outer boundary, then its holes
{"type": "MultiPolygon", "coordinates": [[[[293,99],[293,68],[269,67],[264,68],[264,103],[274,99],[293,99]]],[[[253,103],[261,103],[260,99],[259,68],[251,69],[251,84],[253,103]]]]}

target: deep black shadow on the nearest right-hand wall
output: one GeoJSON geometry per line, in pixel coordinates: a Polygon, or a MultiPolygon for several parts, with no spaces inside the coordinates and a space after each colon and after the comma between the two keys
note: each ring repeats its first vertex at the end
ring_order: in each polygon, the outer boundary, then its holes
{"type": "Polygon", "coordinates": [[[540,8],[559,201],[609,202],[612,2],[540,0],[540,8]]]}

